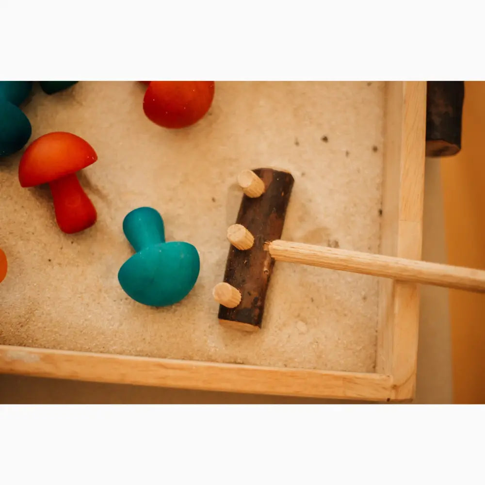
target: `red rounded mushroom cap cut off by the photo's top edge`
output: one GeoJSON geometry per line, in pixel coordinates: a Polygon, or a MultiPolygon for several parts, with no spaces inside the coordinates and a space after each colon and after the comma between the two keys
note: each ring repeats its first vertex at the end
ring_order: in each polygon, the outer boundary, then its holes
{"type": "Polygon", "coordinates": [[[143,111],[164,128],[185,128],[209,111],[213,98],[214,81],[151,81],[143,111]]]}

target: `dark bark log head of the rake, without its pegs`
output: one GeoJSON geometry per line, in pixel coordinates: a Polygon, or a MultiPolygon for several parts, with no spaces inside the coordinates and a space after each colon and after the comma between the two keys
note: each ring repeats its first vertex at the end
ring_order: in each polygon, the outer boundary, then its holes
{"type": "Polygon", "coordinates": [[[251,232],[254,244],[245,251],[231,245],[224,275],[224,282],[241,292],[241,303],[235,308],[220,305],[218,315],[221,324],[246,331],[261,328],[266,291],[275,264],[264,250],[264,243],[281,239],[294,182],[288,172],[270,168],[253,171],[263,180],[265,191],[256,198],[242,196],[236,224],[251,232]]]}

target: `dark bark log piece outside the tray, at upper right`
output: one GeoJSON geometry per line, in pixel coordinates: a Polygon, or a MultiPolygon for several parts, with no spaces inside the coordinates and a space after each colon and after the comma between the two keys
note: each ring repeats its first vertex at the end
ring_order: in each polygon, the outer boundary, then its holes
{"type": "Polygon", "coordinates": [[[427,157],[448,157],[460,151],[464,97],[464,81],[427,82],[427,157]]]}

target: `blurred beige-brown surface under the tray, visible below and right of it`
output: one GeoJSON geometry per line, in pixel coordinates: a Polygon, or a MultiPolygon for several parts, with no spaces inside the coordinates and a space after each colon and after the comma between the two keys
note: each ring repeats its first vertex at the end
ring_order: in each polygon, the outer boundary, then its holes
{"type": "MultiPolygon", "coordinates": [[[[443,194],[438,159],[426,160],[422,259],[446,262],[443,194]]],[[[452,360],[448,290],[421,287],[415,404],[451,404],[452,360]]],[[[99,384],[0,375],[2,404],[305,404],[312,399],[99,384]]],[[[328,402],[328,401],[326,401],[328,402]]]]}

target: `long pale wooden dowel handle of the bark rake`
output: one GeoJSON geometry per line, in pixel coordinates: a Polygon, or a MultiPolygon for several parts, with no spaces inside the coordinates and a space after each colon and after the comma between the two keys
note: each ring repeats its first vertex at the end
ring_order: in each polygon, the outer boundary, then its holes
{"type": "Polygon", "coordinates": [[[267,242],[266,249],[277,261],[458,290],[485,291],[485,271],[472,268],[280,240],[267,242]]]}

